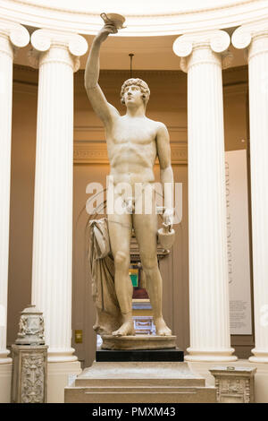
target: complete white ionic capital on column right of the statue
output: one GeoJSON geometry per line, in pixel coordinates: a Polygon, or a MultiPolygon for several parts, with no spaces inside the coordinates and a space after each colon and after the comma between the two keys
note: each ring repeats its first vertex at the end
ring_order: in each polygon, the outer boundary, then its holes
{"type": "Polygon", "coordinates": [[[226,67],[227,64],[230,64],[230,53],[225,53],[229,46],[230,36],[227,32],[210,30],[181,35],[174,41],[173,51],[176,56],[180,56],[181,70],[188,72],[189,66],[193,64],[217,62],[226,67]],[[192,53],[194,52],[195,57],[193,58],[192,53]],[[224,53],[223,56],[220,56],[222,53],[224,53]]]}

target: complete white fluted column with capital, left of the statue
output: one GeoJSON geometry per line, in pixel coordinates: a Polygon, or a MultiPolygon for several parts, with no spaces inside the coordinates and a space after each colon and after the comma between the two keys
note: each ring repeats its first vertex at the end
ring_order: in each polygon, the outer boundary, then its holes
{"type": "Polygon", "coordinates": [[[87,41],[36,30],[39,68],[32,304],[44,313],[49,362],[75,361],[71,348],[73,72],[87,41]]]}

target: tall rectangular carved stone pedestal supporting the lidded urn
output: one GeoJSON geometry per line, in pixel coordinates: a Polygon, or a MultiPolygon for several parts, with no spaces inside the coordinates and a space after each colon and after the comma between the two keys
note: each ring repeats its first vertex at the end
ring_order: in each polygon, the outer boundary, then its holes
{"type": "Polygon", "coordinates": [[[13,345],[13,403],[46,402],[47,346],[13,345]]]}

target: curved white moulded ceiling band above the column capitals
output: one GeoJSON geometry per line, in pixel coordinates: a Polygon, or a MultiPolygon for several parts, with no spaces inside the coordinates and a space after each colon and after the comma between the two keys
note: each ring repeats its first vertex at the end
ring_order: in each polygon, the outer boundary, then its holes
{"type": "Polygon", "coordinates": [[[180,35],[233,28],[268,16],[267,0],[0,0],[0,16],[34,28],[95,35],[100,13],[121,13],[127,28],[118,37],[180,35]],[[111,5],[112,4],[112,5],[111,5]]]}

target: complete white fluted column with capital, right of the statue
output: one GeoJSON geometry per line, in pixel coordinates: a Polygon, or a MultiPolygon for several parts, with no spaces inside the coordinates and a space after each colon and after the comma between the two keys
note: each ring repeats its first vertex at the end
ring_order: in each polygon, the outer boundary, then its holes
{"type": "Polygon", "coordinates": [[[183,35],[173,45],[188,73],[188,361],[237,359],[230,348],[222,107],[229,45],[222,30],[183,35]]]}

